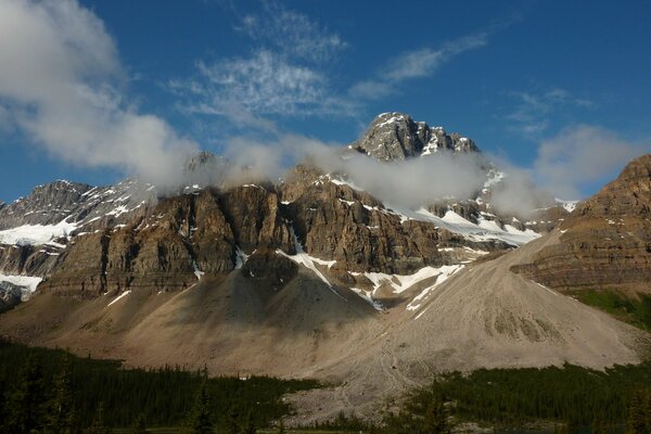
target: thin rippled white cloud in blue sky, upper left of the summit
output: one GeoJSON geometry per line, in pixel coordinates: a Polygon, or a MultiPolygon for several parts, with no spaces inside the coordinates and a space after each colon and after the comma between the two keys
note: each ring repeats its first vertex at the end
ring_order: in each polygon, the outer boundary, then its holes
{"type": "Polygon", "coordinates": [[[263,116],[345,116],[356,111],[352,101],[333,95],[323,74],[268,50],[200,62],[195,77],[170,80],[167,88],[181,98],[186,113],[224,116],[239,128],[271,132],[276,126],[263,116]]]}

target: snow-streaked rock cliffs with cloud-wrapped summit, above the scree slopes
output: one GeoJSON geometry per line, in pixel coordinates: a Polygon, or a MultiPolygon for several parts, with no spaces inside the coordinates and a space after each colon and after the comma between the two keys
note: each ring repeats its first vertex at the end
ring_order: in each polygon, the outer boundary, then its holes
{"type": "MultiPolygon", "coordinates": [[[[387,164],[443,152],[478,155],[472,140],[399,113],[378,116],[349,148],[387,164]]],[[[307,165],[277,186],[229,187],[227,162],[205,152],[187,163],[189,184],[176,191],[136,180],[103,188],[55,181],[0,208],[0,272],[43,278],[41,292],[89,298],[178,291],[240,267],[280,288],[295,272],[288,264],[305,259],[329,284],[368,288],[360,273],[458,265],[520,244],[510,241],[514,231],[535,235],[538,222],[490,208],[490,186],[502,175],[488,164],[486,170],[476,199],[423,204],[420,215],[391,209],[307,165]],[[297,254],[308,257],[288,263],[283,256],[297,254]]]]}

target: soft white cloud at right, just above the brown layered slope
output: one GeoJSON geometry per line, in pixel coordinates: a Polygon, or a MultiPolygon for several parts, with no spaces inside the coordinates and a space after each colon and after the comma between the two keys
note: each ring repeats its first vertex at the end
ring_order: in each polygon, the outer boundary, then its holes
{"type": "Polygon", "coordinates": [[[569,127],[540,143],[534,180],[557,197],[578,199],[585,187],[613,179],[626,163],[646,152],[651,152],[651,143],[630,143],[589,125],[569,127]]]}

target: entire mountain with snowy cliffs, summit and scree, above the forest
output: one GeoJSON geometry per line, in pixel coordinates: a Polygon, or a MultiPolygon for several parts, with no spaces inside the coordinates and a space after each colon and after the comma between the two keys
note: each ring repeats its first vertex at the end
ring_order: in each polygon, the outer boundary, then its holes
{"type": "Polygon", "coordinates": [[[579,295],[651,294],[651,155],[584,202],[537,194],[526,216],[497,206],[509,174],[471,139],[406,114],[379,115],[337,155],[472,158],[481,182],[471,199],[398,206],[310,159],[273,182],[206,184],[227,162],[202,153],[171,192],[39,186],[0,205],[0,335],[330,384],[290,397],[301,423],[372,418],[442,372],[648,356],[648,332],[579,295]]]}

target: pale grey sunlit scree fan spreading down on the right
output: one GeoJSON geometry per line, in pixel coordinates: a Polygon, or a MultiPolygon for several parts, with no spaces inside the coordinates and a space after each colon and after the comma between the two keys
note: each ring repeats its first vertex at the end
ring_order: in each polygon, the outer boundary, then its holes
{"type": "Polygon", "coordinates": [[[296,420],[350,408],[372,414],[387,398],[441,371],[564,362],[601,369],[640,361],[647,333],[509,271],[558,237],[553,232],[455,275],[419,310],[386,324],[373,346],[317,372],[344,382],[295,396],[302,409],[296,420]]]}

